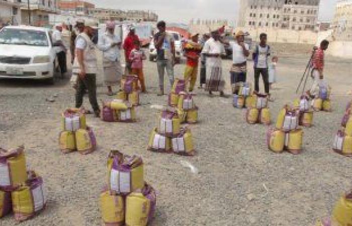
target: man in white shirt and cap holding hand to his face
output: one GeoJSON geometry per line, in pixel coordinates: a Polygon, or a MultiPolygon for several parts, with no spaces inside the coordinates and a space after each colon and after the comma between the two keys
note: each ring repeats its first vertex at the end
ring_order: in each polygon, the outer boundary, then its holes
{"type": "Polygon", "coordinates": [[[232,66],[230,69],[232,93],[238,94],[239,85],[247,80],[247,57],[249,56],[248,44],[244,43],[243,31],[235,35],[236,42],[232,44],[232,66]]]}

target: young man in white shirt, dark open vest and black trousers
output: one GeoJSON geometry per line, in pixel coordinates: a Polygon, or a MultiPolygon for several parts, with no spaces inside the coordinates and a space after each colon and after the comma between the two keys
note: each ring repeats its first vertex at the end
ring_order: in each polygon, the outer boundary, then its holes
{"type": "MultiPolygon", "coordinates": [[[[253,53],[254,60],[254,90],[259,92],[259,77],[263,77],[265,93],[270,99],[269,73],[268,73],[268,57],[270,56],[270,46],[267,45],[267,34],[261,33],[259,45],[255,46],[253,53]]],[[[271,99],[270,99],[271,100],[271,99]]]]}

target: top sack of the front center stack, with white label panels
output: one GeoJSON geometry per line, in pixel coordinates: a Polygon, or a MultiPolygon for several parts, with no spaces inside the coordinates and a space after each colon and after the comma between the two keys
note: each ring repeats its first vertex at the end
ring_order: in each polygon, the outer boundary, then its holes
{"type": "Polygon", "coordinates": [[[122,153],[113,155],[112,164],[108,164],[108,184],[111,194],[128,194],[142,189],[144,186],[142,158],[122,153]]]}

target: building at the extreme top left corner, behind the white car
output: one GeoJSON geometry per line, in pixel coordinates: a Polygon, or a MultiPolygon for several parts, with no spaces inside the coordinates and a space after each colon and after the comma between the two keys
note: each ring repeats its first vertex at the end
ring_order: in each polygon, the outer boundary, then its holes
{"type": "Polygon", "coordinates": [[[0,25],[21,24],[21,5],[18,0],[0,0],[0,25]]]}

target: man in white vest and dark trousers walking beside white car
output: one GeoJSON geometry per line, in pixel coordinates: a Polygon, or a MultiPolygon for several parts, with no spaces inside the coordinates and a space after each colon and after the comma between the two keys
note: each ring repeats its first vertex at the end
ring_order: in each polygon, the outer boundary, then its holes
{"type": "Polygon", "coordinates": [[[75,58],[72,72],[78,75],[76,88],[76,107],[83,104],[84,90],[88,90],[89,101],[92,104],[95,117],[100,117],[97,100],[97,57],[95,45],[92,42],[93,24],[85,23],[84,30],[75,40],[75,58]]]}

